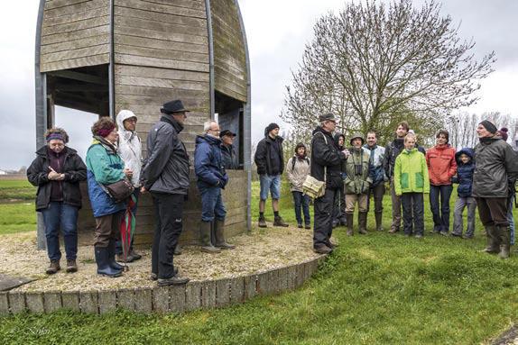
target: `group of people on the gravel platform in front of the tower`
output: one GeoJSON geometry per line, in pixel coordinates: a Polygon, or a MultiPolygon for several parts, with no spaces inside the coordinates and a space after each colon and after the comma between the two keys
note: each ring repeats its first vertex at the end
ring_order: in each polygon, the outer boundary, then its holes
{"type": "MultiPolygon", "coordinates": [[[[88,180],[88,196],[96,219],[97,274],[120,277],[124,267],[117,261],[141,259],[133,249],[133,239],[129,248],[123,250],[128,244],[121,242],[120,234],[121,227],[134,226],[139,196],[149,192],[156,214],[151,278],[159,286],[189,281],[188,277],[180,276],[173,264],[173,257],[180,254],[183,205],[190,186],[190,157],[179,136],[189,112],[180,100],[163,104],[162,117],[147,136],[146,159],[136,132],[138,118],[129,110],[120,111],[116,123],[109,117],[101,117],[94,123],[86,164],[76,150],[67,146],[67,132],[51,128],[45,133],[47,143],[36,152],[27,177],[33,186],[38,186],[36,210],[43,216],[50,259],[47,274],[60,270],[60,231],[64,238],[66,271],[78,270],[79,182],[88,180]],[[120,181],[133,189],[122,201],[108,189],[120,181]]],[[[201,195],[199,235],[204,252],[235,248],[225,239],[227,212],[221,196],[228,183],[227,169],[239,167],[233,147],[235,137],[236,133],[220,131],[217,122],[208,121],[204,132],[196,138],[194,170],[201,195]]]]}

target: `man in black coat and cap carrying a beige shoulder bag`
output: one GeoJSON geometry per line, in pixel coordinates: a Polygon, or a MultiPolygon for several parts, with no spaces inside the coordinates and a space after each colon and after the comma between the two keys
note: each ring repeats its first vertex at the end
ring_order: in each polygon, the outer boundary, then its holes
{"type": "Polygon", "coordinates": [[[320,125],[313,131],[311,140],[311,177],[326,182],[325,195],[315,199],[315,220],[313,226],[313,250],[328,254],[335,245],[330,241],[333,232],[333,204],[335,195],[342,187],[342,161],[348,151],[338,150],[332,132],[337,125],[335,115],[326,113],[319,116],[320,125]]]}

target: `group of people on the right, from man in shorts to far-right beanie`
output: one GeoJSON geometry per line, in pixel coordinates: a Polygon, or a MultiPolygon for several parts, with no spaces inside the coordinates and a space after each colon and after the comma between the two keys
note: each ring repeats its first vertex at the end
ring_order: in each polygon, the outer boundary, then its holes
{"type": "MultiPolygon", "coordinates": [[[[398,123],[395,138],[386,147],[377,144],[374,131],[366,133],[366,142],[361,133],[354,133],[347,147],[345,135],[335,133],[335,128],[332,113],[319,115],[319,126],[312,132],[310,158],[304,143],[298,143],[294,156],[286,164],[299,228],[310,229],[310,197],[303,193],[304,181],[310,176],[325,183],[325,193],[313,201],[313,249],[316,252],[329,253],[336,247],[331,236],[338,225],[347,226],[348,236],[354,234],[356,204],[358,232],[367,233],[371,195],[375,229],[383,232],[383,198],[388,183],[393,216],[390,233],[402,229],[405,236],[422,238],[424,195],[429,194],[433,217],[431,232],[473,238],[478,207],[487,237],[485,251],[509,258],[510,245],[514,244],[513,202],[518,154],[506,142],[506,128],[498,131],[495,124],[483,121],[476,128],[480,142],[475,148],[461,150],[451,147],[446,130],[439,130],[436,144],[425,150],[406,122],[398,123]],[[450,232],[449,199],[454,183],[458,184],[458,197],[450,232]]],[[[287,226],[278,209],[283,171],[282,138],[278,133],[277,124],[268,125],[254,157],[261,184],[260,227],[266,226],[264,203],[269,191],[273,198],[273,225],[287,226]]]]}

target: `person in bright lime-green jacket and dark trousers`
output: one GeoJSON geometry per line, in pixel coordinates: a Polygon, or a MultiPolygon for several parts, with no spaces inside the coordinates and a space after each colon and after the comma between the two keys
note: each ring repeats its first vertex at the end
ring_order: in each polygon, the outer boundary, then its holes
{"type": "Polygon", "coordinates": [[[404,138],[404,150],[395,159],[395,194],[402,197],[402,218],[405,236],[424,235],[423,194],[430,193],[428,167],[424,155],[415,148],[415,135],[404,138]],[[413,228],[413,231],[412,231],[413,228]]]}

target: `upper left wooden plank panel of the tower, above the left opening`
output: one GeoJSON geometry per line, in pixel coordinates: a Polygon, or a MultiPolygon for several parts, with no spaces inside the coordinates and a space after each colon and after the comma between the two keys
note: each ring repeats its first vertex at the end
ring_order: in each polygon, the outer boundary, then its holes
{"type": "Polygon", "coordinates": [[[109,0],[47,0],[41,71],[109,63],[109,0]]]}

